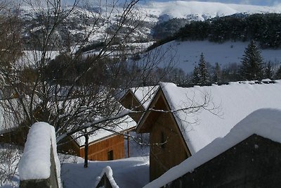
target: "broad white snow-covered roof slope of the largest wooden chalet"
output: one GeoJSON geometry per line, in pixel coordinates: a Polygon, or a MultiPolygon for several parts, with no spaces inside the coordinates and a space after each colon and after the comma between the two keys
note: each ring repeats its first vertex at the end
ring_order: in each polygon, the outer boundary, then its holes
{"type": "Polygon", "coordinates": [[[160,84],[171,111],[197,106],[206,100],[208,106],[176,111],[174,117],[193,155],[217,137],[224,137],[240,120],[260,108],[281,110],[281,82],[253,84],[230,82],[205,87],[177,87],[160,84]],[[206,108],[212,109],[211,112],[206,108]]]}

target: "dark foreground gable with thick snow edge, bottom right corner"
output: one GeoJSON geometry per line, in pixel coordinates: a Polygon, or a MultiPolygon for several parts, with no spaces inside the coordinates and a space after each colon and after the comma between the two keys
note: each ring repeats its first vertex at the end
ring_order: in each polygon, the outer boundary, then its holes
{"type": "Polygon", "coordinates": [[[150,187],[279,187],[281,111],[263,108],[225,137],[168,170],[150,187]]]}

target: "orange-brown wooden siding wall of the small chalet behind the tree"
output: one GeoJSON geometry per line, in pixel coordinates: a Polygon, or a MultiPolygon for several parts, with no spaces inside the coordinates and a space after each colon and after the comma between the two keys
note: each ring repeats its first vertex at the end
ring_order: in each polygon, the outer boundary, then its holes
{"type": "MultiPolygon", "coordinates": [[[[113,160],[124,158],[124,136],[115,135],[100,142],[89,144],[88,159],[91,161],[107,161],[107,152],[113,151],[113,160]]],[[[85,157],[84,147],[80,149],[80,156],[85,157]]]]}

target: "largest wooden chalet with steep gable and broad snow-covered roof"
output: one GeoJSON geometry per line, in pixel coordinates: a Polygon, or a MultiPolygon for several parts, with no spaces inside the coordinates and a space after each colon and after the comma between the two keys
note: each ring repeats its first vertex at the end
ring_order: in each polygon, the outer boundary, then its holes
{"type": "Polygon", "coordinates": [[[155,111],[146,111],[136,128],[137,133],[150,133],[150,181],[224,137],[249,113],[281,109],[280,93],[280,81],[188,88],[160,84],[148,106],[155,111]]]}

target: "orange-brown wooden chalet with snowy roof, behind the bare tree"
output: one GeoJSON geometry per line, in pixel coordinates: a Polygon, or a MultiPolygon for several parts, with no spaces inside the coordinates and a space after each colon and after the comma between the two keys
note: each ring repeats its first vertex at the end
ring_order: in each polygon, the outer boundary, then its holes
{"type": "MultiPolygon", "coordinates": [[[[91,161],[110,161],[119,158],[125,158],[125,139],[128,141],[129,137],[124,136],[131,130],[136,128],[136,123],[129,117],[124,118],[114,129],[114,132],[108,130],[97,130],[94,134],[89,134],[88,159],[91,161]],[[119,132],[116,134],[115,132],[119,132]]],[[[85,158],[85,137],[84,133],[79,132],[73,134],[71,137],[66,137],[58,144],[58,151],[62,153],[70,153],[72,155],[85,158]]],[[[128,150],[129,150],[129,142],[128,150]]]]}

